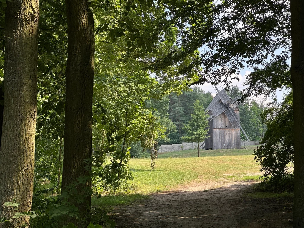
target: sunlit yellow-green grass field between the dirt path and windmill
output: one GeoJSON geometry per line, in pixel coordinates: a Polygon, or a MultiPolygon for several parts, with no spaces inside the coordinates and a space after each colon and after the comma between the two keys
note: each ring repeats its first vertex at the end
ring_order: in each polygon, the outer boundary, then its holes
{"type": "Polygon", "coordinates": [[[150,171],[150,159],[131,159],[133,188],[129,194],[93,198],[92,205],[126,205],[149,193],[176,189],[192,181],[258,180],[260,166],[253,160],[254,147],[243,150],[196,150],[159,154],[156,170],[150,171]]]}

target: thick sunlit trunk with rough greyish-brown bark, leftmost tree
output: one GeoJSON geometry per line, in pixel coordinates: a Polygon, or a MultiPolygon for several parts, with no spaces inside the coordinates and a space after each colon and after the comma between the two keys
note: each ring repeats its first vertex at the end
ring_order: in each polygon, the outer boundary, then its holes
{"type": "MultiPolygon", "coordinates": [[[[7,1],[5,9],[4,112],[0,150],[0,205],[20,203],[19,212],[31,210],[37,112],[38,0],[7,1]]],[[[10,219],[9,207],[0,217],[10,219]]],[[[0,224],[20,227],[29,218],[0,224]]]]}

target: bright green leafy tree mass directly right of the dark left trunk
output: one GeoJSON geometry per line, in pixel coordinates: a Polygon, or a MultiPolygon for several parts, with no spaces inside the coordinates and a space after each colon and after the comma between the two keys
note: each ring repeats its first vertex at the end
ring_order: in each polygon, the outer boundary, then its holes
{"type": "Polygon", "coordinates": [[[112,171],[109,175],[103,172],[102,177],[113,185],[120,178],[131,178],[127,166],[130,145],[141,141],[144,149],[153,148],[164,129],[145,105],[150,97],[159,97],[157,81],[136,61],[122,59],[124,40],[118,39],[121,43],[112,45],[103,39],[100,43],[96,39],[100,55],[95,67],[93,145],[96,161],[100,159],[95,164],[98,169],[103,167],[103,155],[111,157],[102,169],[112,171]],[[108,60],[104,61],[104,57],[108,60]]]}

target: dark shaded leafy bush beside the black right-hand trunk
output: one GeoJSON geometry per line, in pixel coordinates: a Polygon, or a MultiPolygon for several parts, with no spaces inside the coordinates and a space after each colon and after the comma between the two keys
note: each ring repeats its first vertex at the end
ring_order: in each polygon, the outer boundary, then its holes
{"type": "Polygon", "coordinates": [[[279,181],[290,175],[294,155],[292,92],[282,104],[263,112],[267,130],[254,159],[262,166],[266,179],[279,181]]]}

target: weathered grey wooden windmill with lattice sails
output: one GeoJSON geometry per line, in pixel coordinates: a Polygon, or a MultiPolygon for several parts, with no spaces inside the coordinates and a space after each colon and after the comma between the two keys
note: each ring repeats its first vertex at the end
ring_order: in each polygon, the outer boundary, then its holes
{"type": "Polygon", "coordinates": [[[250,138],[240,122],[240,102],[237,102],[240,96],[231,99],[223,88],[219,90],[216,85],[214,88],[217,94],[206,109],[210,117],[205,150],[240,149],[241,140],[249,141],[250,138]]]}

